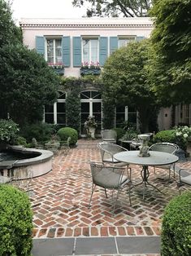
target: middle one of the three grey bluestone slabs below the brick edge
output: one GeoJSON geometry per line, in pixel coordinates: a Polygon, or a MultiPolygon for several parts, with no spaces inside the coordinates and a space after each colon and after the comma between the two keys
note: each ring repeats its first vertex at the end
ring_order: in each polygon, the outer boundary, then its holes
{"type": "Polygon", "coordinates": [[[116,254],[114,237],[77,238],[75,255],[81,254],[116,254]]]}

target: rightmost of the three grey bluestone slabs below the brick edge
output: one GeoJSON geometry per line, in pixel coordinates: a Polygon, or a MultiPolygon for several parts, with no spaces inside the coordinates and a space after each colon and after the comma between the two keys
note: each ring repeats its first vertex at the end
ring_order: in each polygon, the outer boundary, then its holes
{"type": "Polygon", "coordinates": [[[116,237],[119,254],[159,254],[160,236],[116,237]]]}

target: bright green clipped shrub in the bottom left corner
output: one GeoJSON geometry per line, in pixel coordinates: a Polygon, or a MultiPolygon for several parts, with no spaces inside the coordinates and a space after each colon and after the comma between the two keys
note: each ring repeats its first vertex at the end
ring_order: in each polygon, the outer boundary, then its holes
{"type": "Polygon", "coordinates": [[[28,196],[11,185],[0,186],[0,255],[31,255],[33,214],[28,196]]]}

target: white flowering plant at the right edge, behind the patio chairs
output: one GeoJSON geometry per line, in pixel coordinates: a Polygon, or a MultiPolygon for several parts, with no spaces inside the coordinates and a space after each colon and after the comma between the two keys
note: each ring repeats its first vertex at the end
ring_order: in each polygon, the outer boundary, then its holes
{"type": "Polygon", "coordinates": [[[191,127],[176,126],[175,135],[176,135],[176,143],[180,146],[180,148],[186,150],[188,139],[191,136],[191,127]]]}

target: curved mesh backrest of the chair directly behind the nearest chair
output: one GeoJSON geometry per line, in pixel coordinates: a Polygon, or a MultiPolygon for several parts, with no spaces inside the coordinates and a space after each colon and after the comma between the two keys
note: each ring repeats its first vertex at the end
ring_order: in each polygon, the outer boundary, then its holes
{"type": "Polygon", "coordinates": [[[100,150],[102,161],[104,161],[107,157],[111,157],[113,161],[114,154],[118,152],[128,151],[128,149],[123,148],[117,144],[106,142],[98,143],[98,148],[100,150]]]}

